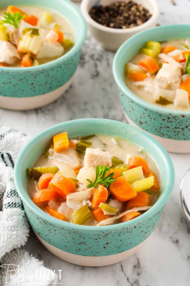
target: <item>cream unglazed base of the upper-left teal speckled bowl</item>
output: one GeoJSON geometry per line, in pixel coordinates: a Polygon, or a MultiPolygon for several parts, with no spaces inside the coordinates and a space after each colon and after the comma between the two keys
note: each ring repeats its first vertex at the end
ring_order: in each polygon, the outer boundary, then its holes
{"type": "MultiPolygon", "coordinates": [[[[72,77],[73,78],[73,77],[72,77]]],[[[69,88],[72,78],[63,86],[48,93],[33,97],[6,97],[0,95],[0,107],[11,110],[29,110],[39,108],[55,101],[69,88]]]]}

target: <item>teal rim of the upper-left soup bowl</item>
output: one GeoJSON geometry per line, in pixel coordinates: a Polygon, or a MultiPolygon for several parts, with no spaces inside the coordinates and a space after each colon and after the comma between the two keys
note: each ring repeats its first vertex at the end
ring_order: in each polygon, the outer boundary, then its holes
{"type": "MultiPolygon", "coordinates": [[[[55,1],[55,0],[54,0],[55,1]]],[[[81,23],[81,26],[83,26],[83,29],[81,29],[81,36],[80,38],[78,39],[77,42],[75,42],[75,45],[72,47],[72,49],[70,49],[66,54],[64,54],[63,56],[59,57],[58,59],[55,59],[53,61],[49,61],[45,64],[41,64],[39,66],[33,66],[33,67],[1,67],[0,66],[0,72],[1,71],[8,71],[8,72],[26,72],[26,71],[39,71],[40,69],[43,69],[43,68],[51,68],[52,66],[55,66],[56,64],[59,64],[61,62],[61,60],[67,60],[68,58],[70,57],[73,57],[75,55],[75,53],[82,47],[84,41],[85,41],[85,38],[86,38],[86,33],[87,33],[87,25],[86,25],[86,21],[83,17],[83,15],[80,13],[80,10],[77,8],[77,6],[72,2],[72,1],[69,1],[69,0],[64,0],[64,1],[60,1],[61,3],[63,3],[64,5],[67,5],[68,7],[71,7],[72,9],[72,12],[76,13],[77,16],[79,17],[80,19],[80,23],[81,23]]],[[[45,5],[42,5],[42,3],[40,3],[39,5],[34,5],[36,7],[45,7],[45,5]]],[[[47,7],[48,8],[48,7],[47,7]]],[[[53,9],[50,9],[50,10],[53,10],[53,9]]],[[[55,12],[57,12],[56,10],[53,10],[55,12]]],[[[60,15],[64,16],[64,18],[69,21],[67,19],[67,17],[61,13],[61,12],[58,12],[60,15]]],[[[72,26],[72,23],[70,23],[71,26],[72,26]]],[[[74,27],[72,26],[73,30],[74,30],[74,27]]]]}

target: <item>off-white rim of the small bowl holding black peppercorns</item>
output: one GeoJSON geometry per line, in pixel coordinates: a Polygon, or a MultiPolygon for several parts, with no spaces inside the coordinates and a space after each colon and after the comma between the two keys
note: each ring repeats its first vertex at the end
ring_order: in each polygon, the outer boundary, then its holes
{"type": "MultiPolygon", "coordinates": [[[[92,0],[90,0],[90,2],[91,1],[92,0]]],[[[108,32],[108,33],[131,34],[131,33],[138,33],[142,29],[148,29],[148,27],[153,25],[154,22],[158,19],[158,17],[159,17],[159,5],[158,5],[157,0],[156,1],[155,0],[148,0],[148,1],[150,2],[150,4],[152,5],[152,8],[153,8],[153,13],[152,13],[151,18],[139,26],[136,26],[133,28],[126,28],[126,29],[115,29],[115,28],[106,27],[106,26],[103,26],[103,25],[97,23],[95,20],[93,20],[91,18],[91,16],[89,15],[89,12],[87,10],[87,6],[88,6],[87,4],[89,3],[89,0],[82,0],[80,10],[81,10],[81,13],[83,14],[85,20],[87,21],[87,23],[91,24],[96,29],[99,29],[99,30],[102,30],[102,31],[108,32]]]]}

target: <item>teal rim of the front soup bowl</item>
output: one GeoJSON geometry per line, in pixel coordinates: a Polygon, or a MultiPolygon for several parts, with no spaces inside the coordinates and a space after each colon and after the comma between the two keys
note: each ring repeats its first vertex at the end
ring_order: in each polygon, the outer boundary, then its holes
{"type": "MultiPolygon", "coordinates": [[[[106,132],[105,132],[105,134],[106,134],[106,132]]],[[[151,135],[148,135],[145,131],[139,131],[138,128],[133,127],[133,126],[131,126],[127,123],[121,122],[121,121],[102,119],[102,118],[84,118],[84,119],[75,119],[75,120],[71,120],[71,121],[66,121],[66,122],[62,122],[62,123],[53,125],[52,127],[45,129],[44,131],[42,131],[38,135],[36,135],[34,138],[32,138],[23,147],[23,149],[21,150],[20,154],[17,157],[17,160],[15,162],[15,168],[14,168],[14,182],[15,182],[15,187],[18,191],[18,194],[19,194],[21,200],[24,201],[24,203],[26,203],[26,205],[30,209],[32,209],[32,211],[35,212],[38,215],[38,217],[42,217],[43,219],[45,219],[50,224],[56,225],[58,227],[64,227],[67,229],[72,228],[75,230],[86,230],[86,231],[100,231],[100,230],[106,231],[106,230],[116,230],[118,228],[127,227],[127,226],[137,224],[138,222],[141,222],[141,220],[145,220],[148,217],[151,217],[157,211],[159,211],[164,206],[164,204],[168,200],[170,194],[172,193],[172,190],[174,187],[174,182],[175,182],[175,171],[174,171],[172,160],[171,160],[169,154],[167,153],[167,151],[164,149],[164,147],[156,139],[154,139],[151,135]],[[35,143],[37,142],[38,139],[43,138],[44,135],[48,135],[48,133],[50,133],[50,131],[53,131],[57,127],[64,127],[65,129],[67,129],[72,124],[80,124],[81,125],[81,124],[85,124],[87,121],[88,122],[90,121],[91,124],[102,123],[102,121],[104,121],[107,124],[112,124],[112,125],[113,124],[119,124],[121,126],[121,128],[125,128],[127,125],[127,128],[129,128],[131,130],[136,130],[138,133],[140,132],[143,137],[148,138],[148,140],[150,140],[154,144],[154,146],[155,146],[154,148],[159,148],[160,152],[164,156],[164,164],[168,170],[168,176],[170,178],[170,181],[166,182],[166,187],[164,189],[165,194],[162,197],[159,197],[159,199],[154,203],[154,205],[148,211],[146,211],[144,214],[142,214],[140,217],[137,217],[137,218],[135,218],[131,221],[128,221],[128,222],[123,222],[122,224],[119,223],[119,224],[106,225],[106,226],[75,225],[75,224],[72,224],[70,222],[61,221],[59,219],[56,219],[56,218],[50,216],[49,214],[46,214],[44,211],[42,211],[37,205],[35,205],[32,202],[31,198],[27,195],[27,192],[22,187],[19,174],[20,174],[20,170],[22,169],[21,166],[22,166],[23,154],[25,154],[25,152],[29,152],[30,148],[32,146],[35,146],[35,143]]]]}

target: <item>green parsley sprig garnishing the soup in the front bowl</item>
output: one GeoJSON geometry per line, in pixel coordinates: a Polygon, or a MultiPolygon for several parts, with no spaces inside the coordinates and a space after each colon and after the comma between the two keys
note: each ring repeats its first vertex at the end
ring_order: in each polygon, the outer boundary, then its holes
{"type": "Polygon", "coordinates": [[[94,183],[92,183],[91,180],[86,179],[90,184],[88,185],[88,188],[98,188],[98,185],[104,185],[105,187],[110,187],[110,184],[112,184],[114,181],[116,181],[113,176],[114,173],[110,173],[106,176],[107,172],[110,170],[107,166],[96,166],[96,180],[94,183]]]}

